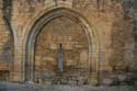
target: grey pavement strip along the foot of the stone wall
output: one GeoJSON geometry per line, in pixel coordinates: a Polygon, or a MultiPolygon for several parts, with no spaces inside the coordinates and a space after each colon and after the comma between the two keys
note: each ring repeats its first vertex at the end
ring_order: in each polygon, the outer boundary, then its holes
{"type": "Polygon", "coordinates": [[[0,83],[0,91],[137,91],[136,86],[117,87],[70,87],[70,86],[43,86],[28,83],[0,83]]]}

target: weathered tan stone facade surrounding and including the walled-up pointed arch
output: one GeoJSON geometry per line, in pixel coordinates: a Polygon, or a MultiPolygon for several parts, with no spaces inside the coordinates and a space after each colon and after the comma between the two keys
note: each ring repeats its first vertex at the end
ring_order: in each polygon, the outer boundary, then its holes
{"type": "Polygon", "coordinates": [[[123,0],[0,0],[0,70],[5,70],[5,80],[96,84],[133,75],[136,37],[123,4],[123,0]],[[59,45],[64,71],[58,68],[59,45]]]}

